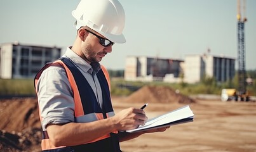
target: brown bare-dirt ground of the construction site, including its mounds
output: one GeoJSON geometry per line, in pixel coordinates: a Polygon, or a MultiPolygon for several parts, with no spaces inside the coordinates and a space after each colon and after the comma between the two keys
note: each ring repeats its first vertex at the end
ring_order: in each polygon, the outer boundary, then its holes
{"type": "MultiPolygon", "coordinates": [[[[255,102],[189,99],[163,87],[145,87],[128,97],[112,96],[116,113],[147,102],[149,118],[190,105],[194,122],[123,142],[123,152],[256,151],[255,102]]],[[[1,99],[0,121],[0,151],[41,151],[36,98],[1,99]]]]}

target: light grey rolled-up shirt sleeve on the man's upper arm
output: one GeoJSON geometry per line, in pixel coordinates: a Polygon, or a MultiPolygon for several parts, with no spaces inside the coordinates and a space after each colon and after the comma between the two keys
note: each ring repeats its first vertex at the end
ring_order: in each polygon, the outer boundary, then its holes
{"type": "Polygon", "coordinates": [[[37,83],[42,127],[74,122],[74,98],[67,74],[60,65],[46,68],[37,83]]]}

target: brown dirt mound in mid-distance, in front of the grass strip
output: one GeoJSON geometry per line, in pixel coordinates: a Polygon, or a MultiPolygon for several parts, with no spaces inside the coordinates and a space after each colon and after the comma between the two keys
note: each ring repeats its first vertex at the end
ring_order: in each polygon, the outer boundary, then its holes
{"type": "Polygon", "coordinates": [[[126,98],[127,102],[142,103],[194,103],[195,101],[187,96],[173,91],[170,87],[164,86],[144,86],[133,92],[126,98]]]}

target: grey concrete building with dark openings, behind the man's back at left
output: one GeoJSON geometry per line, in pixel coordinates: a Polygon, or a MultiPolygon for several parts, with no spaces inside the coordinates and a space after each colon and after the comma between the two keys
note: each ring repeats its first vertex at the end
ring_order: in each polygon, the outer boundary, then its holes
{"type": "Polygon", "coordinates": [[[33,78],[40,68],[60,58],[61,48],[16,43],[1,44],[0,79],[33,78]]]}

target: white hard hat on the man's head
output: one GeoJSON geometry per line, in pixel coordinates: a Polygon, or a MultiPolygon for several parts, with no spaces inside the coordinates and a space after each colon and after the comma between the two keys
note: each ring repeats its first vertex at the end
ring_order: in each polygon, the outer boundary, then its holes
{"type": "Polygon", "coordinates": [[[112,42],[125,42],[125,11],[118,0],[81,0],[72,15],[77,30],[87,26],[112,42]]]}

